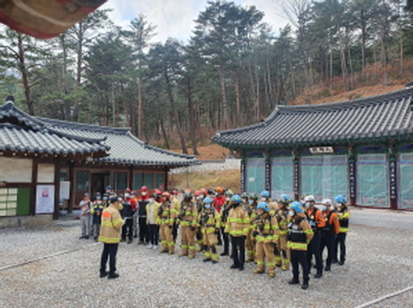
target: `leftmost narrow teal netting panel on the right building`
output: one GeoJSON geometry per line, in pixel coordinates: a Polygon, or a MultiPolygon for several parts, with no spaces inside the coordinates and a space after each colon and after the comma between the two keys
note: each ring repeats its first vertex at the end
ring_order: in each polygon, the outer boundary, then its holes
{"type": "Polygon", "coordinates": [[[246,159],[245,172],[246,192],[260,194],[265,189],[265,159],[246,159]]]}

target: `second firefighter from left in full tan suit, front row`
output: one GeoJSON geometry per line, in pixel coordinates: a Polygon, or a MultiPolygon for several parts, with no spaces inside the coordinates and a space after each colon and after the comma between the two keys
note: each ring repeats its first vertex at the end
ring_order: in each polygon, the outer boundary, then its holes
{"type": "Polygon", "coordinates": [[[192,201],[192,192],[187,189],[184,192],[184,200],[180,204],[180,212],[178,222],[180,225],[181,249],[179,256],[189,256],[190,259],[195,258],[195,235],[198,224],[198,209],[192,201]]]}

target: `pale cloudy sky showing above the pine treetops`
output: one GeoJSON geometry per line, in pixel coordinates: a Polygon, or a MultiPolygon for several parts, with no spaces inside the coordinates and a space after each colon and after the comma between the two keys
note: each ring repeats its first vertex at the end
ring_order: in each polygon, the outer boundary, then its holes
{"type": "MultiPolygon", "coordinates": [[[[243,6],[256,6],[265,13],[264,21],[278,33],[279,28],[288,23],[282,13],[279,0],[234,0],[243,6]]],[[[123,28],[139,13],[147,17],[147,21],[157,25],[156,37],[152,41],[165,41],[168,37],[186,42],[191,37],[191,31],[199,12],[207,6],[207,0],[109,0],[102,8],[112,8],[109,17],[123,28]]]]}

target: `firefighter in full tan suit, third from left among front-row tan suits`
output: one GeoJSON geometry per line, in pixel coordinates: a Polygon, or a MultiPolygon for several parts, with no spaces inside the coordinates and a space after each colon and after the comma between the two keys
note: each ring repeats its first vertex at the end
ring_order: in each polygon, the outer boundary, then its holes
{"type": "Polygon", "coordinates": [[[213,206],[212,199],[204,198],[204,208],[199,214],[199,227],[202,232],[203,250],[205,253],[204,262],[212,260],[212,263],[218,263],[218,230],[221,226],[221,214],[213,206]]]}

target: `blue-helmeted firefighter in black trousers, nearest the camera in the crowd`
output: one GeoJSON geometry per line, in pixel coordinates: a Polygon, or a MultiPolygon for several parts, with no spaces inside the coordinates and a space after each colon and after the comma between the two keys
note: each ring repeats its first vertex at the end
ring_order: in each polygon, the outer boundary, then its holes
{"type": "Polygon", "coordinates": [[[293,280],[290,285],[299,283],[299,264],[303,270],[303,284],[301,289],[308,288],[308,274],[310,272],[307,263],[307,245],[313,238],[313,229],[304,214],[301,203],[295,201],[290,204],[291,222],[288,225],[288,247],[291,249],[291,265],[293,266],[293,280]]]}

